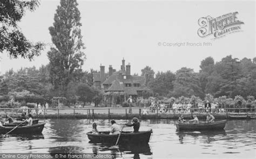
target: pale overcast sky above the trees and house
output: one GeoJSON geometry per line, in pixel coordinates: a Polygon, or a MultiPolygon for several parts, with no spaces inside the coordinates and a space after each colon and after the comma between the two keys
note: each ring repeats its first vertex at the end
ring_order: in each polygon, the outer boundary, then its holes
{"type": "MultiPolygon", "coordinates": [[[[111,64],[117,70],[125,59],[131,63],[131,73],[145,66],[154,71],[177,71],[181,67],[199,71],[200,61],[212,56],[220,61],[227,55],[255,57],[255,2],[245,1],[78,1],[82,35],[87,60],[84,70],[106,69],[111,64]],[[224,38],[200,38],[197,34],[200,17],[219,17],[237,11],[242,32],[224,38]],[[159,46],[159,42],[161,46],[159,46]],[[163,42],[210,42],[211,46],[167,47],[163,42]]],[[[49,62],[46,53],[51,46],[48,28],[52,26],[58,1],[41,1],[35,12],[27,12],[19,27],[31,41],[42,41],[48,47],[35,60],[10,60],[1,54],[1,70],[21,67],[37,68],[49,62]]]]}

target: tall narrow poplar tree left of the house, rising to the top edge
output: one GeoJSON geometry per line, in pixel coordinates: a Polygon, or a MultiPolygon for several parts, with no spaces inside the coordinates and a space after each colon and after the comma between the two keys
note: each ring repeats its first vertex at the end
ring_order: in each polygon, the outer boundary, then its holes
{"type": "Polygon", "coordinates": [[[59,95],[65,95],[69,82],[84,64],[80,12],[76,0],[61,0],[53,26],[49,27],[55,47],[48,52],[51,83],[59,95]]]}

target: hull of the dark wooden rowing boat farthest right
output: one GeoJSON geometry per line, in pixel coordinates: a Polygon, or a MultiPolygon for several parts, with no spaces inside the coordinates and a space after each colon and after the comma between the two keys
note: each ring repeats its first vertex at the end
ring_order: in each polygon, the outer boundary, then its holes
{"type": "Polygon", "coordinates": [[[179,131],[206,131],[224,129],[227,120],[215,121],[212,123],[200,122],[199,124],[176,124],[179,131]]]}

